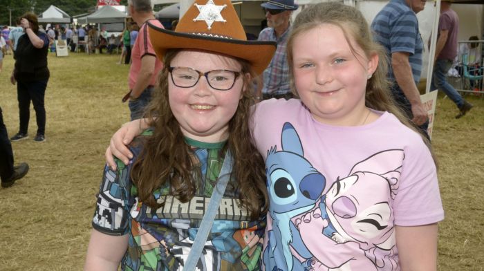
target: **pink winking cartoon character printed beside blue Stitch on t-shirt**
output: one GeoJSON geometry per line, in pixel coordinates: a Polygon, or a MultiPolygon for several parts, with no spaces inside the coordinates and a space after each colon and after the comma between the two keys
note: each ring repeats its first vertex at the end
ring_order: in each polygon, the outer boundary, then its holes
{"type": "Polygon", "coordinates": [[[404,153],[393,149],[358,162],[326,193],[326,210],[336,233],[321,232],[319,209],[296,221],[301,238],[315,256],[315,270],[397,270],[391,201],[398,189],[404,153]],[[324,250],[321,247],[325,247],[324,250]],[[360,252],[356,253],[355,251],[360,252]]]}

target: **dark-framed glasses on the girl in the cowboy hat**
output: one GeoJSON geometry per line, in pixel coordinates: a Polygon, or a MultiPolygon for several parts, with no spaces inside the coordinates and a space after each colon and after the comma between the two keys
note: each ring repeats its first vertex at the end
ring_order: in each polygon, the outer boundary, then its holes
{"type": "Polygon", "coordinates": [[[202,73],[196,71],[194,68],[189,67],[169,67],[169,73],[171,73],[171,82],[180,88],[191,88],[198,83],[200,77],[203,76],[207,79],[210,87],[217,91],[228,91],[235,84],[235,80],[241,72],[239,71],[227,71],[227,70],[214,70],[202,73]]]}

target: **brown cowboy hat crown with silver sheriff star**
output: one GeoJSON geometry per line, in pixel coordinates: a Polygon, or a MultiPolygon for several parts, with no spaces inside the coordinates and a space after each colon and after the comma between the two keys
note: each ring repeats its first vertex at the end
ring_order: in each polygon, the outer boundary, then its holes
{"type": "Polygon", "coordinates": [[[175,32],[246,41],[245,31],[228,0],[196,0],[175,32]]]}

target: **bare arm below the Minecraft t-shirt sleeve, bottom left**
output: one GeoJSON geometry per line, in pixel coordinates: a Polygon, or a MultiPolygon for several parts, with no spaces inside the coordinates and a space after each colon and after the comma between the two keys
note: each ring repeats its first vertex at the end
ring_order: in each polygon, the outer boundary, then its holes
{"type": "Polygon", "coordinates": [[[128,247],[128,238],[128,234],[114,236],[93,229],[87,248],[84,270],[118,270],[122,256],[128,247]]]}

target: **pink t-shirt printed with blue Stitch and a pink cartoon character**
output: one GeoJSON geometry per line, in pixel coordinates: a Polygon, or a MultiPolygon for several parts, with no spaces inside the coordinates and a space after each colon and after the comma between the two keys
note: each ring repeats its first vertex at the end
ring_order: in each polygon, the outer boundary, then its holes
{"type": "Polygon", "coordinates": [[[375,113],[370,124],[334,127],[299,100],[257,104],[270,195],[266,270],[400,270],[395,225],[443,220],[429,149],[394,115],[375,113]]]}

